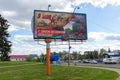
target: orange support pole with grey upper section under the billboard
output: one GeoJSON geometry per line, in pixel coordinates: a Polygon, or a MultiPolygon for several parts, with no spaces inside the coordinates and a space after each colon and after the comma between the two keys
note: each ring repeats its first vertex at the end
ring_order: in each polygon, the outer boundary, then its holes
{"type": "Polygon", "coordinates": [[[51,39],[45,39],[46,42],[46,75],[50,75],[50,42],[51,39]]]}

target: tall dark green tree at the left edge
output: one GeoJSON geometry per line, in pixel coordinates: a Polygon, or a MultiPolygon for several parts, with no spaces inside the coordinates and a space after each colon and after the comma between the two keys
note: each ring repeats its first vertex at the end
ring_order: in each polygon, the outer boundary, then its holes
{"type": "Polygon", "coordinates": [[[8,61],[9,53],[11,52],[11,42],[8,41],[10,37],[8,33],[8,21],[0,15],[0,60],[8,61]]]}

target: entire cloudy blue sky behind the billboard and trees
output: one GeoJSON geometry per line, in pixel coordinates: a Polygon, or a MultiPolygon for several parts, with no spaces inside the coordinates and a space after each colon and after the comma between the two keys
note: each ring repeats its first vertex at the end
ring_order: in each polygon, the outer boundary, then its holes
{"type": "MultiPolygon", "coordinates": [[[[0,0],[0,14],[10,24],[12,42],[10,54],[45,54],[43,40],[35,41],[31,28],[34,10],[85,13],[87,15],[86,42],[71,42],[71,52],[120,49],[120,0],[0,0]]],[[[67,42],[50,43],[51,52],[68,51],[67,42]]]]}

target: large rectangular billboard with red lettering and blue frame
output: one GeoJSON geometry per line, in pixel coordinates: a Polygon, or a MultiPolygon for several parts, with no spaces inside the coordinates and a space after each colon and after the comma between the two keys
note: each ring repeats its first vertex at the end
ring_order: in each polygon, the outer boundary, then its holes
{"type": "Polygon", "coordinates": [[[86,14],[34,10],[34,39],[86,40],[86,14]]]}

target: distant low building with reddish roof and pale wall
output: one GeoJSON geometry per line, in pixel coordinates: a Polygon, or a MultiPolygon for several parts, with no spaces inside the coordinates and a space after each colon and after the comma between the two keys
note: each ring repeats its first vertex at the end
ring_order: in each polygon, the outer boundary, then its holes
{"type": "Polygon", "coordinates": [[[28,55],[10,55],[10,61],[25,61],[28,55]]]}

